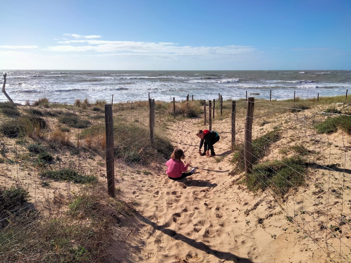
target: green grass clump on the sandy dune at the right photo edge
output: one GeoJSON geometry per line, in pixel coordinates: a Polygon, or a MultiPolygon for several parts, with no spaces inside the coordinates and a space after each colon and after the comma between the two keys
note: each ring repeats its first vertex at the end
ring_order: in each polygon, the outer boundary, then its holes
{"type": "MultiPolygon", "coordinates": [[[[351,115],[351,112],[345,113],[351,115]]],[[[346,133],[351,134],[351,116],[338,115],[337,117],[327,117],[323,122],[314,125],[317,133],[331,134],[335,133],[338,128],[344,130],[346,133]]]]}

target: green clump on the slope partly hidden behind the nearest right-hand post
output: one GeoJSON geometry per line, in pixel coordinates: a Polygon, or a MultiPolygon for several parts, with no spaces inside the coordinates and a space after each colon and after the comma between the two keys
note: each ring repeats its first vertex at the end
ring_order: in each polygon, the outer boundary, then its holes
{"type": "MultiPolygon", "coordinates": [[[[252,163],[258,163],[260,159],[267,155],[269,147],[281,139],[280,130],[274,129],[265,135],[258,137],[252,141],[252,163]]],[[[238,169],[243,170],[245,167],[244,145],[241,144],[234,149],[234,154],[231,162],[236,163],[238,169]]]]}

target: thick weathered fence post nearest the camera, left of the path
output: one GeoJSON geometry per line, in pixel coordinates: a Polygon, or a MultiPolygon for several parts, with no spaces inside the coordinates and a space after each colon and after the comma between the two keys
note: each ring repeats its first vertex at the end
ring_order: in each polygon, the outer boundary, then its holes
{"type": "Polygon", "coordinates": [[[113,141],[113,115],[112,104],[105,104],[105,127],[106,127],[106,174],[107,192],[115,197],[114,187],[114,141],[113,141]]]}

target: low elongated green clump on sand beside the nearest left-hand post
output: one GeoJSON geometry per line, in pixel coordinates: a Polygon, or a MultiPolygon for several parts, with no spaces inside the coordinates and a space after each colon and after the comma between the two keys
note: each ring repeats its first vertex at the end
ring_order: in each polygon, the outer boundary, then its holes
{"type": "Polygon", "coordinates": [[[81,174],[73,168],[41,171],[39,175],[44,178],[60,181],[70,181],[73,183],[92,183],[98,180],[97,177],[93,175],[81,174]]]}

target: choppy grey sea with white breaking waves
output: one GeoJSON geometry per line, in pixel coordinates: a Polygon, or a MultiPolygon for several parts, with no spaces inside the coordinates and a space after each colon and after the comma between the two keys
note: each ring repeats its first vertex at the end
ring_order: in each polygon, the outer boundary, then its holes
{"type": "MultiPolygon", "coordinates": [[[[218,98],[238,100],[302,99],[351,92],[351,70],[0,70],[6,72],[6,92],[18,103],[74,103],[147,100],[176,101],[218,98]]],[[[0,76],[1,77],[1,76],[0,76]]],[[[0,78],[0,85],[3,80],[0,78]]],[[[0,93],[0,100],[6,96],[0,93]]]]}

